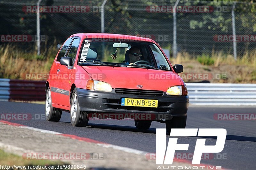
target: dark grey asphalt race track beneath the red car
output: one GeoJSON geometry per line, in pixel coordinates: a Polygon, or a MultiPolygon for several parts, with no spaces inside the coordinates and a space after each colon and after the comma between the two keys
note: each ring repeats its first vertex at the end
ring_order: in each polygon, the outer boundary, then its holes
{"type": "MultiPolygon", "coordinates": [[[[44,105],[0,101],[0,113],[44,114],[44,105]]],[[[215,120],[218,113],[254,113],[255,107],[189,107],[186,128],[224,128],[227,138],[224,150],[217,158],[214,153],[211,159],[201,160],[201,163],[222,166],[226,169],[255,169],[256,157],[256,121],[255,120],[215,120]]],[[[43,119],[43,118],[42,118],[43,119]]],[[[156,128],[165,128],[165,124],[152,122],[149,130],[138,130],[132,120],[90,120],[86,128],[73,127],[70,115],[62,113],[60,122],[46,120],[7,120],[30,127],[57,131],[65,134],[87,137],[109,144],[129,147],[148,153],[156,153],[156,128]]],[[[178,143],[189,144],[188,151],[179,153],[194,153],[198,137],[179,137],[178,143]]],[[[206,145],[215,145],[216,139],[205,137],[206,145]]],[[[166,135],[168,140],[168,136],[166,135]]],[[[168,141],[167,141],[168,142],[168,141]]],[[[145,157],[146,159],[146,157],[145,157]]],[[[192,161],[192,160],[191,160],[192,161]]]]}

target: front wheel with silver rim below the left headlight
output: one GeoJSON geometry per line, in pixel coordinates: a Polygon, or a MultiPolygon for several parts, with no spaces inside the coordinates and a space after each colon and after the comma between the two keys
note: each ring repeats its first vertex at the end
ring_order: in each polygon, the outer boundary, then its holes
{"type": "Polygon", "coordinates": [[[70,121],[73,126],[79,126],[79,127],[86,127],[89,121],[88,114],[86,112],[80,111],[76,88],[73,90],[71,103],[70,103],[70,121]],[[73,103],[75,101],[75,97],[76,97],[76,113],[74,113],[75,117],[73,117],[74,115],[72,115],[73,113],[72,109],[75,110],[75,105],[73,103]]]}

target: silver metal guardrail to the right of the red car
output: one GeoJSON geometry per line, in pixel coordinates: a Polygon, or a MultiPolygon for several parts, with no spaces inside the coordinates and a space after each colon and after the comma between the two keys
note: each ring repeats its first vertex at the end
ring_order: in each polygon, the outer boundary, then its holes
{"type": "Polygon", "coordinates": [[[256,105],[256,84],[186,83],[193,105],[256,105]]]}

